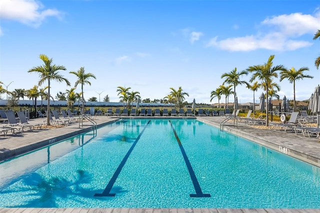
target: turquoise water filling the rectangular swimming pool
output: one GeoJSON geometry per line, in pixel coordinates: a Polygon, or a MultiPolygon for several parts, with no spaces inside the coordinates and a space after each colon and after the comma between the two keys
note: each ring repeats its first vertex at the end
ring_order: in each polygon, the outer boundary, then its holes
{"type": "Polygon", "coordinates": [[[91,133],[2,162],[0,207],[320,207],[319,167],[197,120],[91,133]]]}

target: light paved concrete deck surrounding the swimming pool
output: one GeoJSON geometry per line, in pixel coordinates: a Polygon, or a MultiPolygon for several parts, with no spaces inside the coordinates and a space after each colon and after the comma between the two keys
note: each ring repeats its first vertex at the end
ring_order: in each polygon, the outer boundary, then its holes
{"type": "MultiPolygon", "coordinates": [[[[137,117],[150,118],[153,117],[137,117]]],[[[170,117],[154,117],[170,118],[170,117]]],[[[194,117],[193,117],[194,118],[194,117]]],[[[30,123],[43,123],[46,118],[29,120],[30,123]]],[[[117,120],[118,117],[97,116],[95,121],[98,126],[117,120]]],[[[196,117],[199,121],[220,127],[223,118],[218,116],[196,117]]],[[[47,128],[33,131],[24,131],[16,135],[0,135],[0,161],[13,156],[34,150],[36,148],[57,142],[76,134],[92,129],[89,122],[83,122],[79,128],[78,123],[69,124],[59,128],[47,128]]],[[[290,156],[299,158],[320,167],[320,142],[319,138],[297,135],[294,132],[284,132],[274,129],[254,128],[248,124],[237,122],[233,126],[233,120],[227,122],[224,131],[252,140],[256,143],[281,151],[290,156]]],[[[109,212],[109,213],[206,213],[206,212],[320,212],[320,209],[227,209],[227,208],[0,208],[1,212],[109,212]]]]}

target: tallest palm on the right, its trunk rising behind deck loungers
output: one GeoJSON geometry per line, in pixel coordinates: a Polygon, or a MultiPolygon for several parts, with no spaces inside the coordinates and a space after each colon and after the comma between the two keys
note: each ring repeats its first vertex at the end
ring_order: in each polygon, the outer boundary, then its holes
{"type": "Polygon", "coordinates": [[[269,118],[268,118],[268,89],[269,85],[272,82],[273,77],[278,77],[278,74],[276,71],[279,70],[285,70],[285,67],[283,65],[276,65],[273,66],[273,60],[274,54],[270,55],[268,58],[268,61],[264,64],[249,66],[246,68],[247,71],[252,73],[252,76],[250,78],[250,82],[255,80],[256,78],[261,80],[261,83],[265,83],[265,93],[266,93],[266,107],[265,107],[265,125],[269,125],[269,118]]]}

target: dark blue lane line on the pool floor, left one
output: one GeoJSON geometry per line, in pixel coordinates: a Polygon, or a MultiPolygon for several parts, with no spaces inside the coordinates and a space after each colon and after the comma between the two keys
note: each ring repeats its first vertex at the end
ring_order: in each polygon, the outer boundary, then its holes
{"type": "Polygon", "coordinates": [[[144,126],[144,128],[142,129],[142,131],[140,132],[140,134],[138,135],[138,137],[135,139],[135,141],[133,142],[133,144],[131,145],[131,147],[129,148],[129,150],[126,152],[126,154],[124,155],[123,159],[121,160],[120,164],[118,165],[118,167],[116,168],[116,170],[114,171],[111,179],[109,180],[108,184],[105,186],[105,189],[103,190],[102,193],[95,193],[94,196],[115,196],[115,193],[110,193],[110,190],[116,180],[116,178],[118,177],[119,173],[121,172],[122,167],[124,166],[126,160],[128,159],[129,155],[131,154],[135,144],[137,143],[137,141],[140,139],[144,129],[146,128],[146,126],[150,123],[151,120],[149,120],[147,122],[147,124],[144,126]]]}

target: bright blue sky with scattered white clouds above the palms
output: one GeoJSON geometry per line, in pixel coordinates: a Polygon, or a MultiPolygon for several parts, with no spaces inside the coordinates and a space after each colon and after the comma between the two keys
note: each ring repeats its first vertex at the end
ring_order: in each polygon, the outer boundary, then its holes
{"type": "MultiPolygon", "coordinates": [[[[8,90],[33,87],[38,75],[27,70],[42,65],[39,54],[46,54],[67,68],[60,74],[72,86],[76,78],[69,71],[83,66],[96,76],[84,85],[85,99],[100,93],[101,101],[107,94],[117,102],[116,87],[125,86],[153,100],[181,86],[187,101],[210,103],[223,72],[262,64],[274,54],[274,65],[309,67],[304,73],[314,78],[296,83],[296,99],[303,100],[320,83],[314,66],[320,40],[312,40],[319,7],[316,0],[1,0],[0,81],[13,81],[8,90]]],[[[280,98],[293,99],[292,84],[274,81],[280,98]]],[[[51,95],[65,89],[53,82],[51,95]]],[[[253,101],[244,85],[236,91],[240,103],[253,101]]]]}

